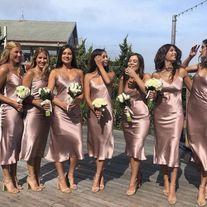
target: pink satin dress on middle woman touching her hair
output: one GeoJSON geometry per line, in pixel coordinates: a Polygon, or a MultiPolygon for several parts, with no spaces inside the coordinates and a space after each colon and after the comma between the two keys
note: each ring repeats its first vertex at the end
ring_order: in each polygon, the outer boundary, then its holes
{"type": "Polygon", "coordinates": [[[91,100],[103,98],[107,102],[107,106],[102,113],[100,121],[98,121],[93,111],[89,110],[87,144],[90,157],[97,158],[98,160],[105,160],[112,158],[114,150],[111,104],[112,85],[106,86],[104,82],[102,82],[102,84],[97,84],[95,82],[97,78],[99,78],[99,75],[90,80],[91,100]]]}

